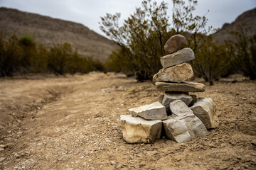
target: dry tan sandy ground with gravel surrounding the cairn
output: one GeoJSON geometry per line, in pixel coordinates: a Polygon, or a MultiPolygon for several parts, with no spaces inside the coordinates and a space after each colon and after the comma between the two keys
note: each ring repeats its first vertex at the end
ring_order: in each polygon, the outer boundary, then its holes
{"type": "Polygon", "coordinates": [[[256,169],[256,81],[194,93],[217,105],[207,137],[124,142],[119,115],[161,94],[112,73],[1,79],[0,169],[256,169]]]}

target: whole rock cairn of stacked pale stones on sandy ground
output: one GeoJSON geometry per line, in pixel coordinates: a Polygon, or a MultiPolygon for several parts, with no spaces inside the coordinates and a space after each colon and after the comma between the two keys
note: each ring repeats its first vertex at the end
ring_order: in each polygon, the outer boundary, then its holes
{"type": "Polygon", "coordinates": [[[193,77],[189,61],[195,59],[193,50],[186,47],[183,35],[174,35],[164,45],[169,55],[161,57],[163,69],[153,77],[158,91],[164,91],[159,102],[129,109],[121,115],[123,138],[128,143],[150,143],[161,134],[176,142],[189,142],[208,135],[207,129],[219,125],[215,104],[211,98],[197,98],[188,92],[203,92],[203,84],[187,81],[193,77]],[[162,128],[164,133],[161,133],[162,128]]]}

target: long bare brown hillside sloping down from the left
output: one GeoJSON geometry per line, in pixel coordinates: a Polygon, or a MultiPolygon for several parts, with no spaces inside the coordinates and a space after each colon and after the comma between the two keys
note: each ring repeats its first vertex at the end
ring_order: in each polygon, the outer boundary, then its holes
{"type": "Polygon", "coordinates": [[[17,36],[32,35],[36,42],[46,45],[68,42],[82,56],[92,56],[103,62],[117,47],[111,40],[80,23],[21,12],[12,8],[0,8],[0,31],[17,36]]]}

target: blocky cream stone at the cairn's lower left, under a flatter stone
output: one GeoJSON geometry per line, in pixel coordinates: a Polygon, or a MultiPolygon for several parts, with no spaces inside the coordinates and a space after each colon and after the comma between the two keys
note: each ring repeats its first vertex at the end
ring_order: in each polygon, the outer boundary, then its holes
{"type": "Polygon", "coordinates": [[[124,140],[128,143],[150,143],[161,136],[161,120],[144,120],[132,115],[121,115],[121,128],[124,140]]]}

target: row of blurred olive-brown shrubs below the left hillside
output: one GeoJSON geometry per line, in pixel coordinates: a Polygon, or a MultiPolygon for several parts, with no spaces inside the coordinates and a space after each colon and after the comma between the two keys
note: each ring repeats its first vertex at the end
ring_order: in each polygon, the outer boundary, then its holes
{"type": "Polygon", "coordinates": [[[0,77],[34,72],[75,74],[105,71],[99,60],[81,57],[68,43],[46,47],[36,45],[30,35],[22,35],[21,38],[8,36],[0,33],[0,77]]]}

